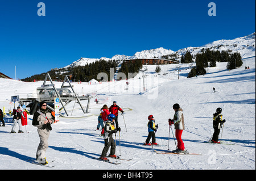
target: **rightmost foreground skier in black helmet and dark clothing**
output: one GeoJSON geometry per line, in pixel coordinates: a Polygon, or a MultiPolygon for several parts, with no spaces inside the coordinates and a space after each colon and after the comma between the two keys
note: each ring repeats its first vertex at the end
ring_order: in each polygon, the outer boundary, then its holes
{"type": "Polygon", "coordinates": [[[216,112],[213,114],[213,129],[214,133],[212,136],[212,142],[216,144],[220,144],[220,141],[218,141],[218,134],[220,134],[220,129],[223,123],[226,122],[226,120],[222,120],[221,115],[222,109],[219,107],[217,108],[216,112]]]}

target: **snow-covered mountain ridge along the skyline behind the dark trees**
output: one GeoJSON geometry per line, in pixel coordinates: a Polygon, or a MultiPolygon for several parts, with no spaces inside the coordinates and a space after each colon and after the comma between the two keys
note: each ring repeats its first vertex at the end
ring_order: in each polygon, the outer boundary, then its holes
{"type": "MultiPolygon", "coordinates": [[[[95,61],[100,60],[125,60],[125,59],[137,59],[137,58],[161,58],[162,56],[168,54],[177,53],[178,56],[184,55],[187,51],[191,52],[192,55],[200,53],[202,49],[209,48],[210,50],[231,50],[232,52],[240,52],[243,58],[255,56],[255,32],[250,35],[238,37],[233,40],[217,40],[212,43],[205,44],[201,47],[187,47],[176,52],[170,49],[164,49],[163,47],[143,50],[141,52],[136,52],[133,56],[126,56],[124,54],[116,54],[112,58],[102,57],[98,58],[80,58],[79,60],[73,62],[72,64],[65,66],[68,68],[69,66],[84,66],[86,64],[93,63],[95,61]]],[[[177,57],[179,60],[179,57],[177,57]]]]}

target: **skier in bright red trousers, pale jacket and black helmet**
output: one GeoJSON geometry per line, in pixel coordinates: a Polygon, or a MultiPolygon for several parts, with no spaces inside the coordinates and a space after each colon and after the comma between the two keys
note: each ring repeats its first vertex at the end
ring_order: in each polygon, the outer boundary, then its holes
{"type": "Polygon", "coordinates": [[[184,116],[183,110],[180,108],[179,104],[174,104],[172,108],[175,111],[174,119],[169,119],[169,125],[174,124],[174,129],[176,130],[175,136],[177,139],[177,149],[174,150],[174,153],[186,153],[184,143],[181,139],[181,134],[184,130],[184,116]]]}

